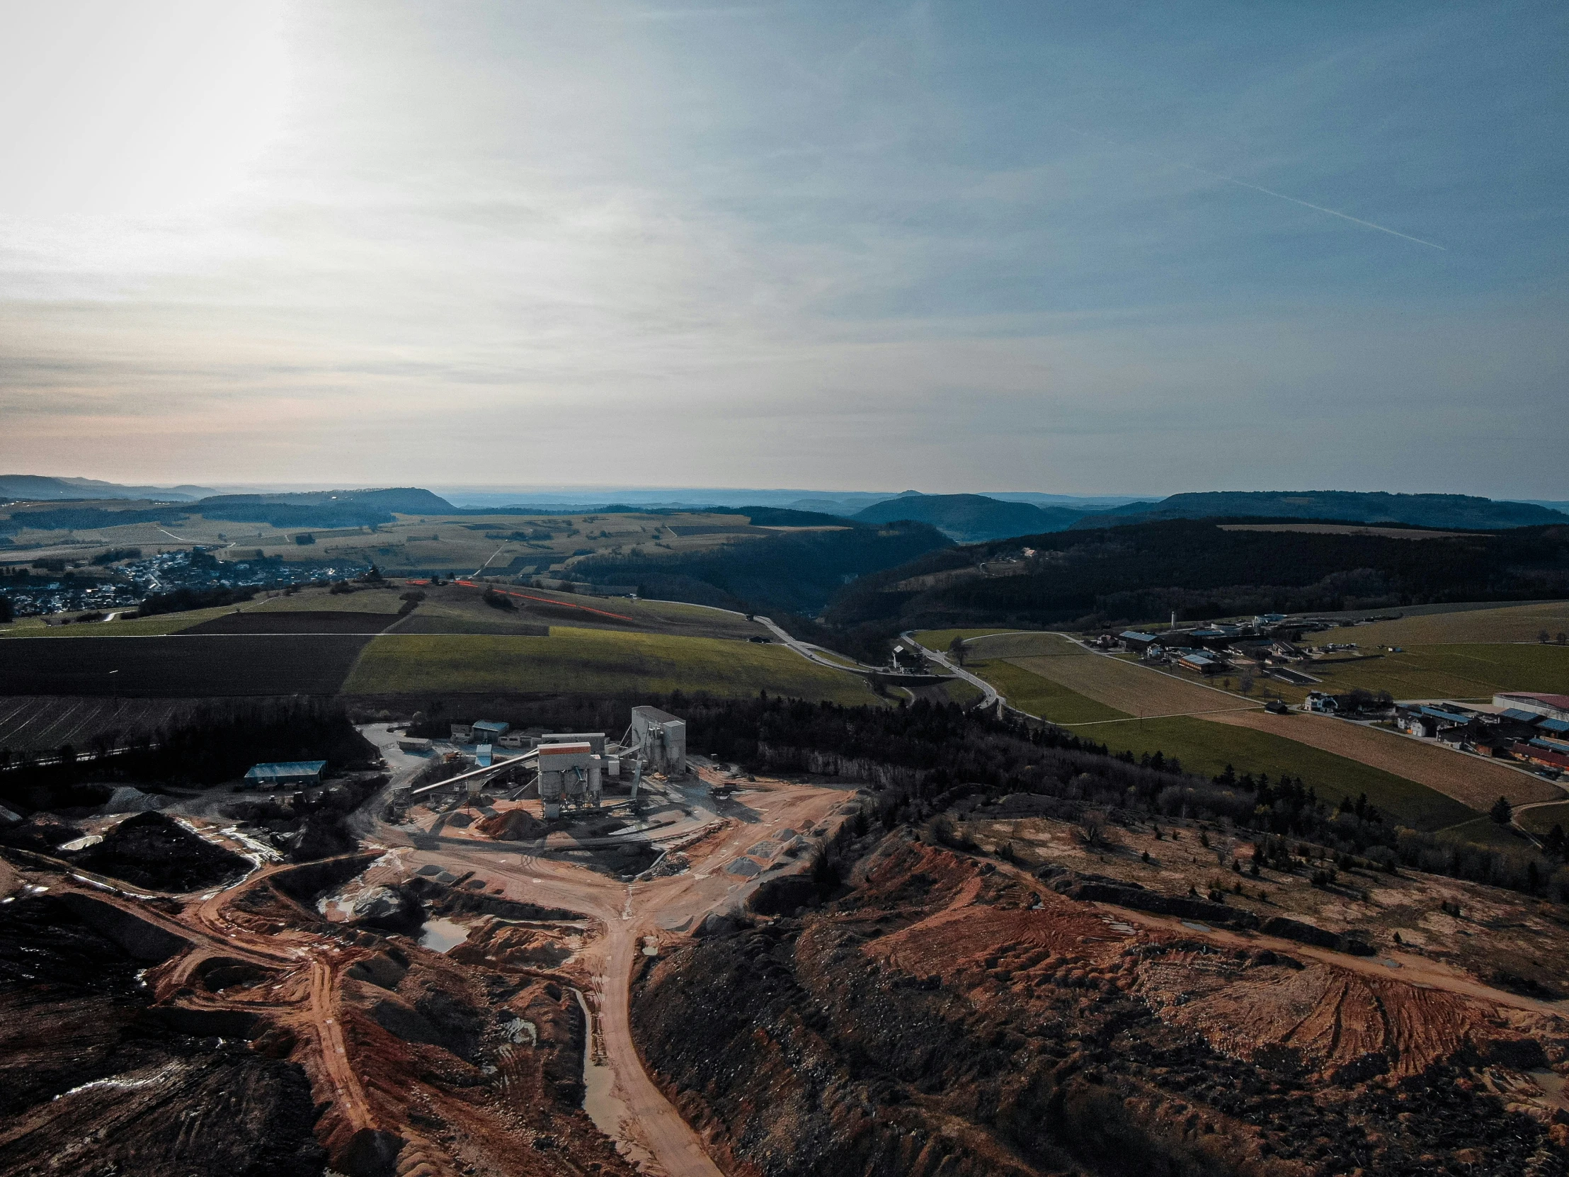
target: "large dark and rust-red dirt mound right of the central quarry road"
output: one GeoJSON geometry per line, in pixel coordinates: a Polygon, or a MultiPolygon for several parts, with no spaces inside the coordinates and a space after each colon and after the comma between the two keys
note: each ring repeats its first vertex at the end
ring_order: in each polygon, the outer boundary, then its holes
{"type": "Polygon", "coordinates": [[[734,1172],[1569,1168],[1555,1012],[1134,923],[907,833],[852,877],[634,992],[645,1058],[734,1172]]]}

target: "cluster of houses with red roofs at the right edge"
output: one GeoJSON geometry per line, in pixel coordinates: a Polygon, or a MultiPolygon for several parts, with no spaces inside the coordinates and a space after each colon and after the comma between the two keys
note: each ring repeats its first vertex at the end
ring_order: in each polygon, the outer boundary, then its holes
{"type": "Polygon", "coordinates": [[[1569,695],[1508,692],[1492,706],[1401,703],[1395,723],[1411,736],[1453,744],[1498,760],[1519,760],[1550,772],[1569,771],[1569,695]]]}

